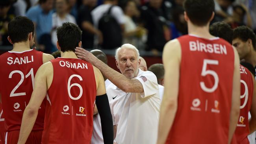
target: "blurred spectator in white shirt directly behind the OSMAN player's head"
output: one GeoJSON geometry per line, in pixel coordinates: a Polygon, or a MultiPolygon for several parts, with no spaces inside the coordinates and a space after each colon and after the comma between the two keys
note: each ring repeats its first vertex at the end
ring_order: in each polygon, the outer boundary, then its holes
{"type": "Polygon", "coordinates": [[[55,48],[51,52],[57,50],[57,28],[62,26],[64,22],[76,24],[76,19],[68,13],[69,0],[56,0],[56,13],[52,14],[52,44],[55,48]]]}

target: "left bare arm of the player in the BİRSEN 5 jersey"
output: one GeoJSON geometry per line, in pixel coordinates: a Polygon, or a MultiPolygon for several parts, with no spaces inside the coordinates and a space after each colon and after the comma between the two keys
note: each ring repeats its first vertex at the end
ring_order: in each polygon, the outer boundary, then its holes
{"type": "Polygon", "coordinates": [[[163,65],[165,68],[165,87],[160,108],[157,144],[165,144],[178,107],[181,49],[177,39],[165,44],[163,65]]]}

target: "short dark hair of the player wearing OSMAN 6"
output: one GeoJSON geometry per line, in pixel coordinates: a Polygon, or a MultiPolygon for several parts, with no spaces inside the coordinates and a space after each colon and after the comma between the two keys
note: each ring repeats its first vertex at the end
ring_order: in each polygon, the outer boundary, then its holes
{"type": "Polygon", "coordinates": [[[62,26],[57,28],[57,38],[61,52],[74,52],[82,39],[82,31],[76,24],[64,22],[62,26]]]}

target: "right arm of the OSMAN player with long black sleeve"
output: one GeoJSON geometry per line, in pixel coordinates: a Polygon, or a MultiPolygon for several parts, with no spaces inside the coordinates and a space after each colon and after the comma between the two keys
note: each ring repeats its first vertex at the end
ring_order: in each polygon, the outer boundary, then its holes
{"type": "Polygon", "coordinates": [[[113,133],[113,120],[109,107],[108,96],[106,94],[104,78],[98,68],[93,66],[95,73],[95,80],[97,86],[96,93],[96,106],[98,113],[100,114],[102,136],[104,144],[113,144],[114,133],[113,133]]]}

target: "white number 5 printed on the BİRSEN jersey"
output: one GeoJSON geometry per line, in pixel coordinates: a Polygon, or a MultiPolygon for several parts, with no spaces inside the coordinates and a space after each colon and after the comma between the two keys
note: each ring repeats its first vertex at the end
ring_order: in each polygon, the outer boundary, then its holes
{"type": "Polygon", "coordinates": [[[213,85],[213,87],[209,88],[209,87],[205,86],[204,81],[200,81],[200,87],[205,92],[209,92],[210,93],[210,92],[214,92],[217,89],[218,84],[219,84],[219,76],[218,76],[218,74],[214,70],[207,70],[206,69],[207,65],[219,65],[219,61],[212,60],[212,59],[204,59],[201,76],[206,76],[208,74],[213,76],[213,78],[214,78],[214,85],[213,85]]]}

